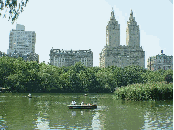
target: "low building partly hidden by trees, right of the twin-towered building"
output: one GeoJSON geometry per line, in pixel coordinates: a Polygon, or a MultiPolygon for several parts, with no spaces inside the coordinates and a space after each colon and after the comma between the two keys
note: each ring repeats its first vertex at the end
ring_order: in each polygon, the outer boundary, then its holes
{"type": "Polygon", "coordinates": [[[167,56],[165,54],[156,55],[148,58],[147,61],[148,70],[168,70],[173,69],[173,56],[167,56]]]}

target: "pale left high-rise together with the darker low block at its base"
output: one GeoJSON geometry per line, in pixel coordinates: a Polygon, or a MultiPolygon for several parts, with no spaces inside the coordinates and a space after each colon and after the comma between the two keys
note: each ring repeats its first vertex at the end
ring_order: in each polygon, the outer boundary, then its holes
{"type": "Polygon", "coordinates": [[[39,62],[39,55],[35,53],[35,43],[35,31],[25,31],[24,25],[17,24],[16,30],[10,31],[7,55],[14,58],[22,57],[25,61],[39,62]]]}

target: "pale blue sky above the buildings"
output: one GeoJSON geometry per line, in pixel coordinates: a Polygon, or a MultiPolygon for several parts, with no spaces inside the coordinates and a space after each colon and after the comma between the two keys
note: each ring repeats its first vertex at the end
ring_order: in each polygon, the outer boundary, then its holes
{"type": "MultiPolygon", "coordinates": [[[[120,45],[126,45],[131,9],[140,29],[140,46],[147,59],[163,53],[173,56],[173,0],[30,0],[12,25],[0,17],[0,51],[7,53],[10,30],[16,24],[36,32],[39,62],[50,62],[52,49],[93,51],[93,66],[106,45],[106,26],[112,7],[120,24],[120,45]]],[[[3,11],[0,11],[3,14],[3,11]]]]}

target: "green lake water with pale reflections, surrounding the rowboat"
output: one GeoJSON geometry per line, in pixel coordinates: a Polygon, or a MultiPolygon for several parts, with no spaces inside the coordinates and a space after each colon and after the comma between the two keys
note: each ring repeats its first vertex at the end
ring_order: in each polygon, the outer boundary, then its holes
{"type": "Polygon", "coordinates": [[[150,130],[173,129],[173,100],[122,101],[112,94],[0,93],[0,130],[150,130]],[[67,105],[96,103],[94,110],[67,105]]]}

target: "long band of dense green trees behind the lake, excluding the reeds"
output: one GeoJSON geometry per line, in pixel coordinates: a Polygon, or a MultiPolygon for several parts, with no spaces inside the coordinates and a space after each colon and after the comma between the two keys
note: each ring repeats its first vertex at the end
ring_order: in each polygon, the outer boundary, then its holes
{"type": "Polygon", "coordinates": [[[99,68],[78,62],[74,66],[56,67],[22,58],[0,58],[0,86],[12,92],[110,93],[121,86],[162,82],[172,74],[172,70],[149,71],[139,66],[99,68]]]}

